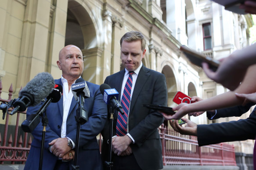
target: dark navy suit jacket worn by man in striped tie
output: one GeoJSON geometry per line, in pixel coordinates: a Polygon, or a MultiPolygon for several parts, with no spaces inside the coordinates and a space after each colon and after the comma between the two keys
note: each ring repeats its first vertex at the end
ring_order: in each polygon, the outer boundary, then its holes
{"type": "MultiPolygon", "coordinates": [[[[108,76],[104,83],[115,88],[121,93],[125,69],[108,76]]],[[[119,95],[120,101],[120,95],[119,95]]],[[[130,144],[138,165],[143,170],[162,169],[162,147],[158,127],[163,123],[162,114],[143,107],[143,104],[167,104],[166,78],[163,74],[144,66],[138,74],[130,102],[129,133],[135,140],[130,144]]],[[[117,112],[114,112],[113,135],[116,135],[115,127],[117,112]]],[[[104,160],[108,158],[109,120],[102,131],[103,145],[101,154],[104,160]]]]}

